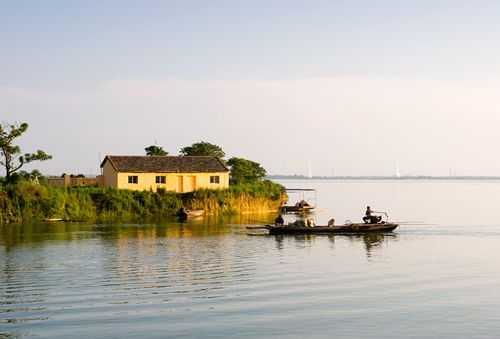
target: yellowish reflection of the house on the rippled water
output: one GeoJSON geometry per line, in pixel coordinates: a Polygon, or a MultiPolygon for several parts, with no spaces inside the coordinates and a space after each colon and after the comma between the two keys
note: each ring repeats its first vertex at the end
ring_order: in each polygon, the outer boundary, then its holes
{"type": "Polygon", "coordinates": [[[235,274],[243,279],[252,270],[246,265],[246,273],[241,272],[247,250],[225,226],[172,223],[122,226],[114,232],[107,239],[114,246],[107,246],[104,272],[108,280],[130,288],[183,293],[204,285],[210,293],[235,274]]]}

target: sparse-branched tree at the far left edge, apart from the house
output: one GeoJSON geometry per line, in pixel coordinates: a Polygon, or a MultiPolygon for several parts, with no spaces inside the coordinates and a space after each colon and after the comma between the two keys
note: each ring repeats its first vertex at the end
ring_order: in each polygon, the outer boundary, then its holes
{"type": "Polygon", "coordinates": [[[28,124],[25,122],[19,125],[0,124],[0,165],[5,168],[7,182],[10,182],[12,175],[24,165],[33,161],[52,159],[51,155],[41,150],[37,150],[35,153],[21,154],[21,148],[13,143],[27,130],[28,124]]]}

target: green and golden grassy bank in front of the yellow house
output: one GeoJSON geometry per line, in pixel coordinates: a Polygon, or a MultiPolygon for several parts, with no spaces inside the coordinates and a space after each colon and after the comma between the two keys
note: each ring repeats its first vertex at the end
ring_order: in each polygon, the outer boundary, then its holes
{"type": "Polygon", "coordinates": [[[133,222],[172,216],[182,206],[207,214],[276,211],[283,187],[271,181],[192,193],[110,188],[56,188],[20,181],[0,189],[0,224],[62,218],[71,221],[133,222]]]}

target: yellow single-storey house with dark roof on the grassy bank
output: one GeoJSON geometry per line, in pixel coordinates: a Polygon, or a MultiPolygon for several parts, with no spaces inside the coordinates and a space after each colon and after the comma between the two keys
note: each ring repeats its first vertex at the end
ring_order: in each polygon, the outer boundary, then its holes
{"type": "Polygon", "coordinates": [[[102,185],[119,189],[184,193],[229,187],[229,169],[216,157],[108,155],[101,169],[102,185]]]}

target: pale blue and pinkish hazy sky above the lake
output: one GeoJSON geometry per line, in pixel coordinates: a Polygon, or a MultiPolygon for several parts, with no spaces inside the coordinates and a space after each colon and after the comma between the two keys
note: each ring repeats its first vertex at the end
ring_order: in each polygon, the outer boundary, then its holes
{"type": "Polygon", "coordinates": [[[47,174],[197,141],[270,174],[500,175],[498,1],[0,1],[47,174]]]}

